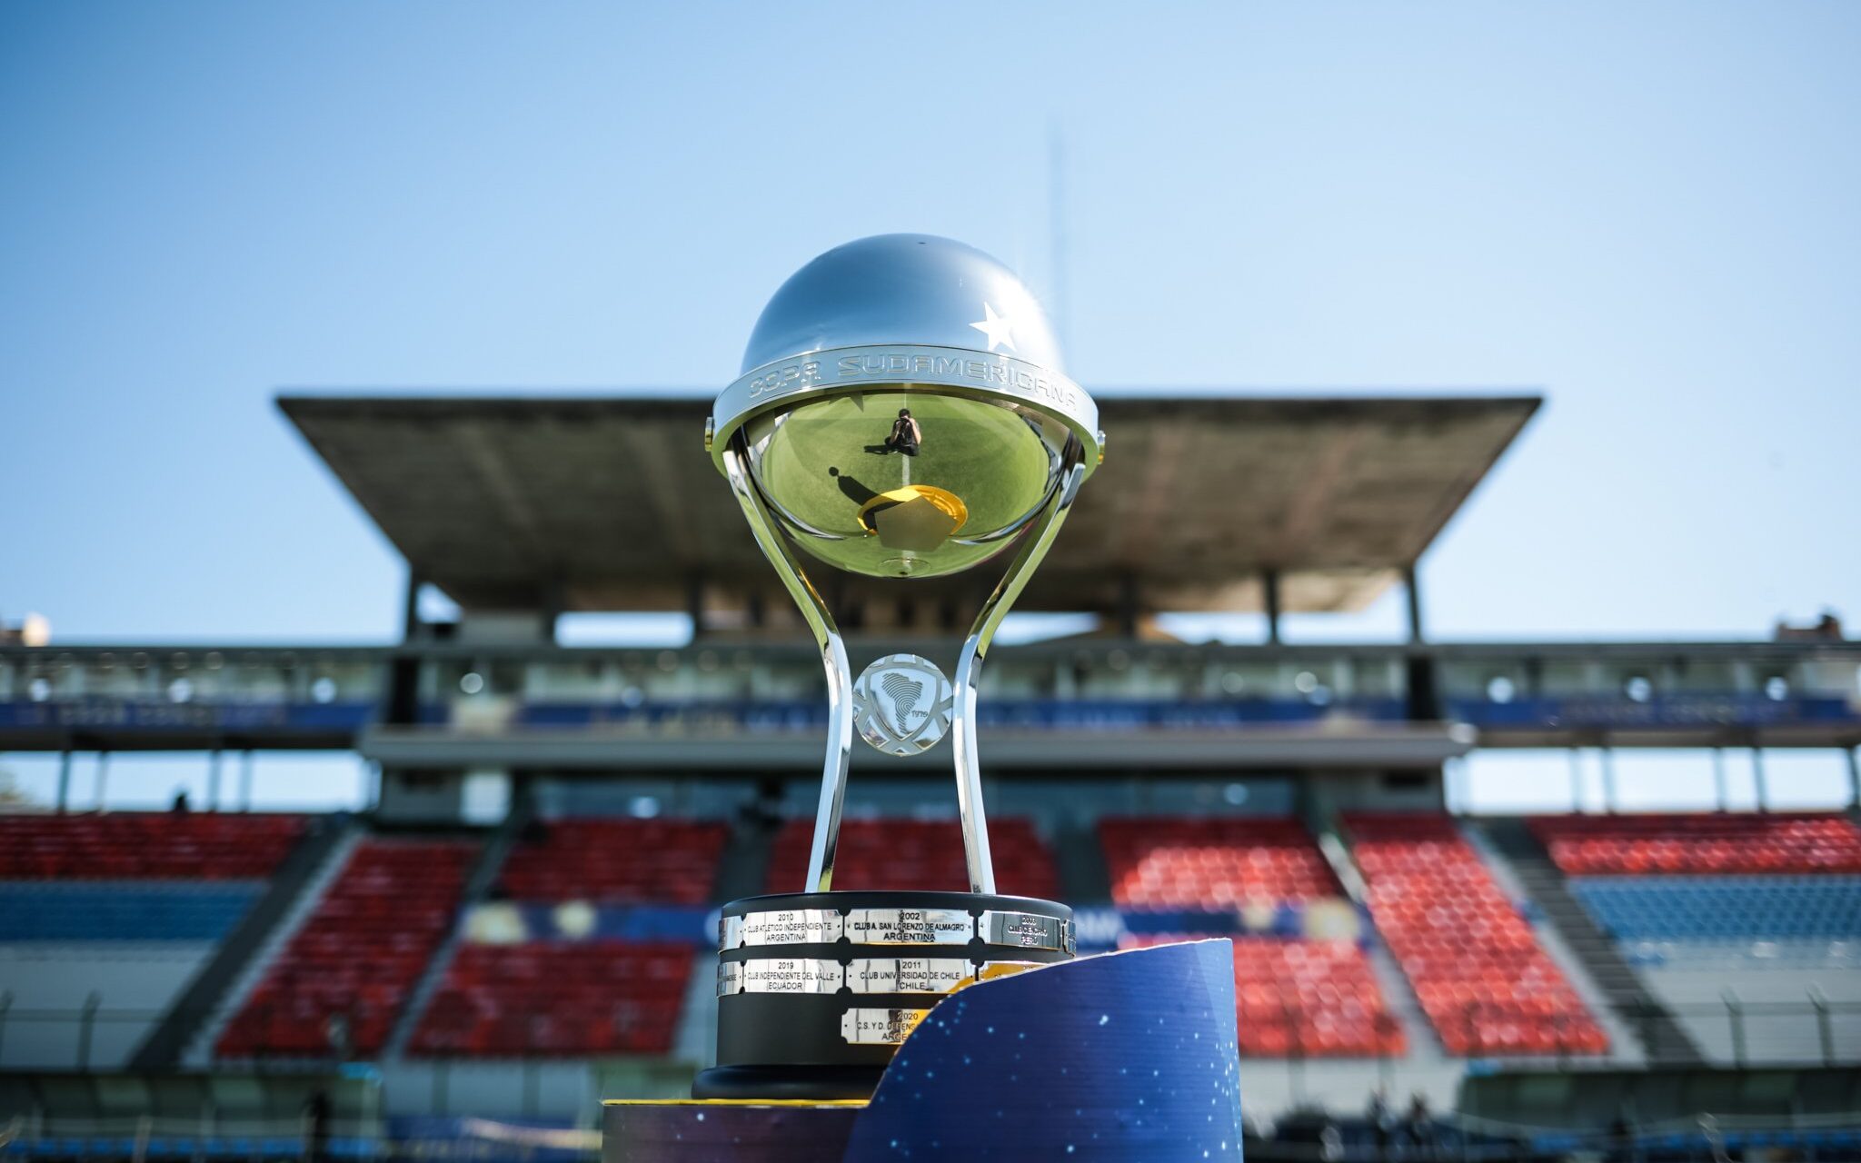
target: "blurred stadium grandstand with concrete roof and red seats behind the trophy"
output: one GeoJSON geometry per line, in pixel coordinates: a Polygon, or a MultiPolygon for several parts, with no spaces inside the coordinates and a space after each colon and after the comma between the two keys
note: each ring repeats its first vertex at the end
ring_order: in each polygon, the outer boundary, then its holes
{"type": "MultiPolygon", "coordinates": [[[[599,1098],[709,1063],[716,906],[800,888],[815,648],[698,452],[702,398],[279,406],[404,555],[404,635],[0,644],[0,752],[61,772],[0,815],[6,1150],[573,1154],[599,1098]],[[577,612],[690,640],[564,646],[577,612]],[[315,750],[368,761],[363,809],[249,809],[246,759],[315,750]],[[208,795],[74,809],[78,759],[128,752],[207,754],[208,795]]],[[[1107,398],[1115,456],[1018,607],[1089,629],[984,679],[1003,891],[1070,902],[1092,953],[1232,938],[1245,1109],[1280,1146],[1420,1096],[1468,1157],[1608,1128],[1857,1157],[1861,642],[1431,640],[1416,564],[1537,406],[1107,398]],[[1392,586],[1405,642],[1280,638],[1392,586]],[[1184,642],[1174,612],[1267,635],[1184,642]],[[1595,754],[1604,806],[1450,811],[1476,748],[1595,754]],[[1621,811],[1632,748],[1690,750],[1718,809],[1621,811]],[[1764,755],[1805,748],[1842,755],[1848,808],[1772,809],[1764,755]]],[[[828,584],[856,659],[949,659],[988,579],[828,584]]],[[[836,888],[962,888],[947,765],[854,757],[836,888]]]]}

